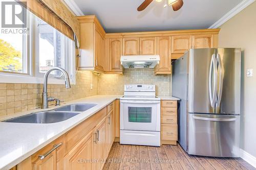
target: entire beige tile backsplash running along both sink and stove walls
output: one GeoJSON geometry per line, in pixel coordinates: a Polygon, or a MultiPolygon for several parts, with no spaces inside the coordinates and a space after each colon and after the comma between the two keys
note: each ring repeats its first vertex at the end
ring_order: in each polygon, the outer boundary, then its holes
{"type": "MultiPolygon", "coordinates": [[[[124,84],[155,84],[157,95],[171,95],[172,76],[154,75],[154,69],[124,69],[123,75],[94,75],[79,70],[76,85],[48,84],[48,95],[65,102],[96,94],[123,94],[124,84]],[[91,83],[93,89],[91,89],[91,83]]],[[[40,108],[42,84],[0,83],[0,119],[40,108]]],[[[54,104],[50,102],[49,105],[54,104]]]]}

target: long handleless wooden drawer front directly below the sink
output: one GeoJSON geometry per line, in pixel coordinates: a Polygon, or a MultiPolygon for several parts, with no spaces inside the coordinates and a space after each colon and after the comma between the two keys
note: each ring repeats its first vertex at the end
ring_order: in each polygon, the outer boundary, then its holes
{"type": "Polygon", "coordinates": [[[67,152],[69,152],[77,142],[86,136],[103,118],[106,116],[106,107],[84,120],[81,124],[67,132],[67,152]]]}

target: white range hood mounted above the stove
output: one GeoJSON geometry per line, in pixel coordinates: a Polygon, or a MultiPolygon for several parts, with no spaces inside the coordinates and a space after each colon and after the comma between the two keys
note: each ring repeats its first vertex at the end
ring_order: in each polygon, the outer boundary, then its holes
{"type": "Polygon", "coordinates": [[[159,55],[136,55],[121,56],[121,65],[123,68],[155,68],[159,64],[159,55]]]}

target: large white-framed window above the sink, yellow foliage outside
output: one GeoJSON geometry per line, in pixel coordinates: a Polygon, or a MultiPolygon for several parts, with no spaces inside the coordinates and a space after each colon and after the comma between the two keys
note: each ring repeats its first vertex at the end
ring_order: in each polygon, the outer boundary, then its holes
{"type": "MultiPolygon", "coordinates": [[[[41,83],[45,72],[57,66],[65,69],[71,83],[75,83],[75,42],[33,13],[26,12],[27,32],[0,34],[0,76],[25,76],[40,80],[33,83],[41,83]]],[[[52,71],[50,79],[55,79],[54,83],[63,82],[62,76],[62,72],[52,71]]]]}

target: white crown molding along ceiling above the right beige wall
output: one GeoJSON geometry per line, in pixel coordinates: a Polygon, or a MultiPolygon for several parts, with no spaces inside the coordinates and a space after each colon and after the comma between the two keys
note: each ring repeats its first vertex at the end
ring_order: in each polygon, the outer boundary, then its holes
{"type": "Polygon", "coordinates": [[[256,0],[243,0],[239,3],[236,7],[231,9],[228,13],[226,13],[223,17],[221,17],[217,22],[209,27],[209,29],[216,29],[219,28],[223,23],[228,21],[234,15],[237,15],[240,11],[248,7],[250,4],[254,3],[256,0]]]}

